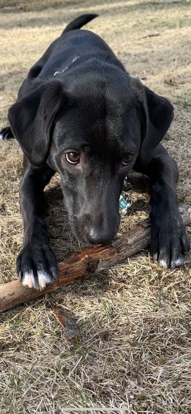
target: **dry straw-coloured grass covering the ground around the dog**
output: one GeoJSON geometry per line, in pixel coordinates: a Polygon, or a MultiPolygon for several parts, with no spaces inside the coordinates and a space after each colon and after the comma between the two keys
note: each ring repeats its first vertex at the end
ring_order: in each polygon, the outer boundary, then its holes
{"type": "MultiPolygon", "coordinates": [[[[7,109],[30,66],[64,25],[83,12],[98,12],[88,28],[109,43],[131,75],[144,77],[148,87],[174,104],[164,144],[179,165],[179,201],[191,204],[190,2],[82,1],[61,7],[52,0],[41,6],[56,7],[43,11],[36,11],[38,2],[24,4],[32,11],[1,14],[0,128],[7,124],[7,109]],[[159,36],[144,37],[154,33],[159,36]]],[[[17,277],[15,260],[22,244],[22,156],[14,141],[0,146],[0,280],[5,283],[17,277]]],[[[134,174],[131,180],[135,203],[120,231],[149,212],[147,179],[134,174]]],[[[59,187],[56,176],[46,193],[46,221],[60,261],[76,253],[78,243],[59,187]]],[[[187,230],[191,238],[191,228],[187,230]]],[[[142,252],[0,318],[2,414],[61,414],[64,407],[191,413],[191,255],[181,269],[163,270],[142,252]],[[81,342],[65,342],[55,308],[73,315],[81,342]]]]}

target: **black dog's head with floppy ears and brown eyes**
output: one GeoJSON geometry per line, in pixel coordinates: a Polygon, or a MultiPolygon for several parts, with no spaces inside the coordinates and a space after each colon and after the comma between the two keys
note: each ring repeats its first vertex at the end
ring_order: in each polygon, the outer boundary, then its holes
{"type": "Polygon", "coordinates": [[[72,231],[85,243],[115,237],[119,196],[134,165],[147,166],[173,118],[167,99],[126,74],[65,87],[40,84],[10,108],[21,149],[35,167],[60,173],[72,231]],[[87,86],[88,85],[88,86],[87,86]]]}

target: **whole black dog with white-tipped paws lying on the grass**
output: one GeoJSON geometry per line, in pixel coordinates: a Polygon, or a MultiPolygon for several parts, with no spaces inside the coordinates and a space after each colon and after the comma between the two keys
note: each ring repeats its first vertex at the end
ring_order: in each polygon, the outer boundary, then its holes
{"type": "MultiPolygon", "coordinates": [[[[69,221],[78,240],[112,241],[119,196],[133,168],[151,178],[151,253],[165,268],[184,263],[190,245],[177,208],[178,168],[160,141],[171,103],[130,77],[107,44],[75,19],[31,68],[8,118],[24,152],[20,186],[23,249],[17,272],[42,289],[57,278],[43,222],[43,189],[60,173],[69,221]]],[[[2,138],[12,137],[10,128],[2,138]]]]}

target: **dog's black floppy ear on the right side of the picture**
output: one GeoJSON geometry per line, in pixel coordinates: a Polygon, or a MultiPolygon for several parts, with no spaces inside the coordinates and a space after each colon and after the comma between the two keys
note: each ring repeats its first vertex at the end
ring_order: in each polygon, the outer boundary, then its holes
{"type": "Polygon", "coordinates": [[[170,127],[174,115],[173,106],[168,99],[156,95],[141,82],[133,79],[131,85],[136,89],[143,113],[138,159],[141,166],[147,166],[153,158],[155,148],[170,127]]]}

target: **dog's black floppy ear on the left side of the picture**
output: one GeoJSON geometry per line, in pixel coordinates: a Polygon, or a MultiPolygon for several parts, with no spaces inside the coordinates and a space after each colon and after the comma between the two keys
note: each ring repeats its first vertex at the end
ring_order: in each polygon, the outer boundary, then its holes
{"type": "Polygon", "coordinates": [[[8,111],[11,129],[27,158],[36,167],[45,165],[51,145],[54,120],[63,104],[62,83],[41,84],[19,99],[8,111]]]}

